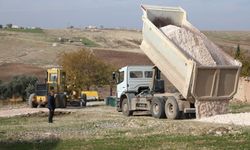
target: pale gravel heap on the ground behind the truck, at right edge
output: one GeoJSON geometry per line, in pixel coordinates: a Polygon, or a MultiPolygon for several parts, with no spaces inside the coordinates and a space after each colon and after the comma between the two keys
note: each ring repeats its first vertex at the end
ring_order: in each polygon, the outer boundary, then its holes
{"type": "Polygon", "coordinates": [[[201,122],[232,124],[240,126],[250,126],[250,112],[238,114],[216,115],[208,118],[197,119],[201,122]]]}

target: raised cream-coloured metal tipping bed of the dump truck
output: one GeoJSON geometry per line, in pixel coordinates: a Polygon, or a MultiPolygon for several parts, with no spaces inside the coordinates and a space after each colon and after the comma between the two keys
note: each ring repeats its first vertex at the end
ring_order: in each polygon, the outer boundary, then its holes
{"type": "Polygon", "coordinates": [[[225,65],[201,65],[184,53],[156,26],[157,19],[175,26],[196,29],[186,19],[180,7],[142,5],[142,51],[161,70],[162,74],[189,99],[231,99],[236,93],[241,63],[223,51],[218,51],[227,62],[225,65]],[[154,23],[153,23],[154,22],[154,23]]]}

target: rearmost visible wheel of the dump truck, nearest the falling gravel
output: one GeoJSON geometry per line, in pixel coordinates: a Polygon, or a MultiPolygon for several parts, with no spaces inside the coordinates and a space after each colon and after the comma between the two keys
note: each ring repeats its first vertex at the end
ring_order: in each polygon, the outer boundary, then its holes
{"type": "Polygon", "coordinates": [[[168,119],[179,119],[180,111],[175,98],[169,97],[165,104],[165,112],[168,119]]]}

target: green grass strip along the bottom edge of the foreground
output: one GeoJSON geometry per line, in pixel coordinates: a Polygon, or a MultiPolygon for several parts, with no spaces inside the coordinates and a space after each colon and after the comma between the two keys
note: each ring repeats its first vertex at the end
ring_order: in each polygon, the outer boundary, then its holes
{"type": "Polygon", "coordinates": [[[150,135],[141,137],[119,137],[100,139],[48,139],[34,141],[0,142],[1,149],[248,149],[250,134],[226,136],[182,136],[150,135]]]}

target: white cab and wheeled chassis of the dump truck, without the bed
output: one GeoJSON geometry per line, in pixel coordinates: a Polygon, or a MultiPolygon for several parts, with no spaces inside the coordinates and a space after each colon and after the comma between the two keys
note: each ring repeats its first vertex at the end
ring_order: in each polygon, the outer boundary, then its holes
{"type": "Polygon", "coordinates": [[[177,119],[181,112],[195,113],[194,106],[183,100],[179,92],[165,92],[156,66],[125,66],[113,73],[113,79],[117,83],[117,111],[125,116],[149,111],[155,118],[177,119]]]}

